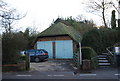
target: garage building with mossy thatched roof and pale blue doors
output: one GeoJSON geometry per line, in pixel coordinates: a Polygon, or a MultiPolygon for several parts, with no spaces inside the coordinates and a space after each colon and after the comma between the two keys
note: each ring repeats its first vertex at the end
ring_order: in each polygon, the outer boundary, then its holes
{"type": "Polygon", "coordinates": [[[34,49],[45,49],[50,59],[73,59],[80,42],[80,34],[61,22],[47,28],[37,37],[34,49]]]}

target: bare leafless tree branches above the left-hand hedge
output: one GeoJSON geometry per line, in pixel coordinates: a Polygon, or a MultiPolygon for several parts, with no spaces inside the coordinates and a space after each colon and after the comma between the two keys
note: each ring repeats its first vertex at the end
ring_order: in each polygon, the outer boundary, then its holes
{"type": "Polygon", "coordinates": [[[0,0],[0,9],[1,27],[3,27],[7,33],[11,32],[14,21],[25,17],[25,15],[19,14],[14,8],[7,8],[7,3],[2,0],[0,0]]]}

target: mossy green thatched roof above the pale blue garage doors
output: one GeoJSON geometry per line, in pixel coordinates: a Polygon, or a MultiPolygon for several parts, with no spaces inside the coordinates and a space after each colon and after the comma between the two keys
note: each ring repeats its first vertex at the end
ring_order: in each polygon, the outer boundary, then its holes
{"type": "Polygon", "coordinates": [[[76,42],[79,42],[81,40],[80,33],[76,29],[61,22],[51,25],[45,31],[41,32],[38,38],[57,35],[68,35],[76,42]]]}

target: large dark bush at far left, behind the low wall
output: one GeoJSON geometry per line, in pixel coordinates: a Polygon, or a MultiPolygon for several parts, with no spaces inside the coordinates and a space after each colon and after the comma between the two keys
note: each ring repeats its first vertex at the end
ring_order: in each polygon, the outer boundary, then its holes
{"type": "Polygon", "coordinates": [[[3,33],[2,64],[18,62],[20,50],[26,49],[27,40],[21,33],[3,33]]]}

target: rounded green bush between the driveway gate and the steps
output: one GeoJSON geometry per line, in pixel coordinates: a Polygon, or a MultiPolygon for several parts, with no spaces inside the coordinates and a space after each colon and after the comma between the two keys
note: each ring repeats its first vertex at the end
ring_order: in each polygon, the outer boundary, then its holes
{"type": "Polygon", "coordinates": [[[95,69],[98,66],[97,53],[90,47],[82,47],[82,58],[91,60],[91,67],[95,69]]]}

